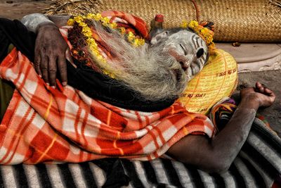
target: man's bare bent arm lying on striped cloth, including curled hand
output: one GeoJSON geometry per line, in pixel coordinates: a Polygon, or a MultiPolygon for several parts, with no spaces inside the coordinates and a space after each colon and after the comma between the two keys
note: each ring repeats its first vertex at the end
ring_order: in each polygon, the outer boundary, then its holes
{"type": "Polygon", "coordinates": [[[210,173],[228,170],[248,137],[257,109],[275,100],[275,94],[259,82],[255,89],[242,90],[241,97],[233,117],[213,139],[189,135],[171,146],[167,154],[210,173]]]}

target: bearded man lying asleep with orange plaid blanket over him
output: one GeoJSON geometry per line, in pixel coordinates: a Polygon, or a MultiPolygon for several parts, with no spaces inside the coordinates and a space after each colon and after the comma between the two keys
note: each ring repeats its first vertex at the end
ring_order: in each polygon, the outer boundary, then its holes
{"type": "Polygon", "coordinates": [[[22,23],[32,32],[17,21],[2,19],[0,26],[1,82],[13,93],[1,122],[9,132],[1,133],[2,164],[166,155],[221,173],[240,152],[258,108],[275,101],[259,82],[242,89],[235,113],[215,134],[206,116],[174,104],[209,56],[208,42],[195,32],[158,30],[144,43],[137,35],[148,33],[138,25],[138,33],[115,29],[100,15],[34,14],[22,23]],[[11,45],[16,49],[5,58],[11,45]],[[17,146],[9,144],[15,132],[22,135],[13,140],[17,146]]]}

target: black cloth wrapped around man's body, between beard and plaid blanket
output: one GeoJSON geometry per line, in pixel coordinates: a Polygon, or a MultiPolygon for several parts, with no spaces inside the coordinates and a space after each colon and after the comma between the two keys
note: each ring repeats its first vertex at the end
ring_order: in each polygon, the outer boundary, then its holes
{"type": "MultiPolygon", "coordinates": [[[[30,61],[34,62],[34,44],[36,35],[29,32],[25,25],[19,20],[8,20],[0,18],[1,44],[0,60],[7,55],[6,48],[13,44],[22,54],[25,54],[30,61]]],[[[81,66],[81,63],[74,59],[77,68],[67,61],[67,84],[79,89],[92,99],[98,99],[108,104],[126,108],[134,111],[161,111],[174,103],[175,99],[162,101],[143,101],[141,94],[126,87],[122,82],[118,82],[106,75],[81,66]]],[[[59,75],[58,75],[59,77],[59,75]]]]}

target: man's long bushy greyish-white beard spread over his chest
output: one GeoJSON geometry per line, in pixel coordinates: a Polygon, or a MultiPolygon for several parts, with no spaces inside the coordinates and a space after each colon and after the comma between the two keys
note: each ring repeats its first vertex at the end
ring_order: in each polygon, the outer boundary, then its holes
{"type": "Polygon", "coordinates": [[[164,40],[151,46],[134,47],[119,32],[108,32],[93,24],[116,58],[106,64],[98,62],[94,56],[92,58],[100,68],[113,73],[117,80],[136,91],[138,98],[149,101],[176,99],[184,91],[191,76],[165,50],[164,40]]]}

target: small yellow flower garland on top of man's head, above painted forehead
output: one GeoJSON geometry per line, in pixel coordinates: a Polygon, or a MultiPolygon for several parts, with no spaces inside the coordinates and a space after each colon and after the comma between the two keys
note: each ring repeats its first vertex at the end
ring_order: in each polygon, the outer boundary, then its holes
{"type": "Polygon", "coordinates": [[[206,27],[203,27],[197,21],[192,20],[192,21],[190,21],[190,23],[188,23],[187,21],[183,21],[183,23],[181,24],[181,27],[189,28],[190,30],[196,32],[197,35],[199,35],[202,39],[204,39],[209,50],[213,50],[216,48],[215,44],[213,42],[214,32],[209,30],[206,27]]]}

